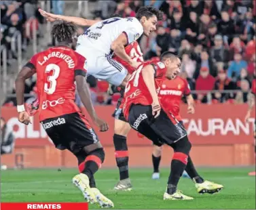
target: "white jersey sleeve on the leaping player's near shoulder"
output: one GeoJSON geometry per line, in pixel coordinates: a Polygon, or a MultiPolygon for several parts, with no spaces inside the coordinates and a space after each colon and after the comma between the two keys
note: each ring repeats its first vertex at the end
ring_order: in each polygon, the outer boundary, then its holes
{"type": "Polygon", "coordinates": [[[143,26],[137,20],[136,18],[126,18],[127,21],[127,26],[124,29],[123,33],[126,34],[127,37],[127,44],[129,45],[130,43],[136,41],[141,37],[143,34],[143,26]]]}

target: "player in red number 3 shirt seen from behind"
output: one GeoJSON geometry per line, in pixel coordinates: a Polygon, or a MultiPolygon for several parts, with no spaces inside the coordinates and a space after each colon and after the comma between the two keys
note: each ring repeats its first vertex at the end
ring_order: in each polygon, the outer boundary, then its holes
{"type": "Polygon", "coordinates": [[[80,173],[73,177],[73,184],[88,202],[98,203],[100,207],[113,207],[112,201],[96,188],[94,180],[94,173],[105,159],[103,146],[75,104],[74,80],[92,121],[100,131],[108,130],[107,123],[98,118],[92,106],[86,83],[86,58],[73,50],[77,42],[76,27],[71,23],[60,22],[53,26],[52,36],[58,41],[58,47],[33,56],[18,74],[18,119],[26,125],[30,123],[29,113],[24,108],[24,83],[37,73],[39,121],[56,148],[67,149],[77,157],[80,173]]]}

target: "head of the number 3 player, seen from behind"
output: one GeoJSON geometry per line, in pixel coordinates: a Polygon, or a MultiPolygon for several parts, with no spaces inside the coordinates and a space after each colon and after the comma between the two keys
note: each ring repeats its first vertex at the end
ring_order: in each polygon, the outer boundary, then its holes
{"type": "Polygon", "coordinates": [[[67,45],[75,49],[77,45],[77,27],[75,24],[65,21],[58,22],[52,27],[51,34],[60,45],[67,45]]]}

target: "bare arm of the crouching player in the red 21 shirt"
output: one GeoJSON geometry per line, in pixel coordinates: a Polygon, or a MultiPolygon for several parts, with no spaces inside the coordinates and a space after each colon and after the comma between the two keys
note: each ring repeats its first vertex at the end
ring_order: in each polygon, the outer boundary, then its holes
{"type": "Polygon", "coordinates": [[[152,97],[152,112],[153,116],[158,117],[160,114],[161,106],[158,100],[158,93],[156,92],[156,85],[155,85],[155,70],[153,69],[152,65],[145,66],[142,70],[142,77],[145,81],[147,89],[149,89],[149,93],[152,97]]]}

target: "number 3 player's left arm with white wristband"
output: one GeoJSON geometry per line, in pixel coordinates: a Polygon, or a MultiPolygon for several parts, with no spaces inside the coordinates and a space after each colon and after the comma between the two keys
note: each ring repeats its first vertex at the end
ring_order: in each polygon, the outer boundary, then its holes
{"type": "Polygon", "coordinates": [[[29,114],[26,112],[24,107],[25,81],[26,79],[32,77],[35,74],[35,72],[35,68],[26,65],[22,68],[22,70],[20,70],[15,81],[17,110],[19,113],[18,120],[20,121],[20,123],[24,123],[25,125],[29,125],[29,123],[31,123],[29,114]]]}

